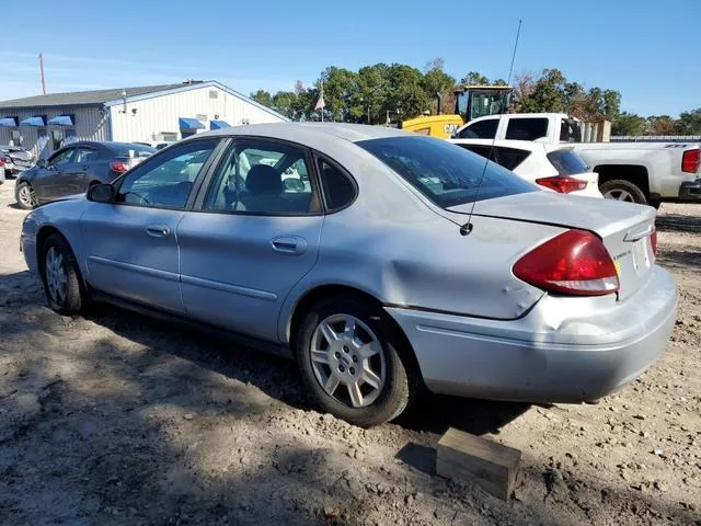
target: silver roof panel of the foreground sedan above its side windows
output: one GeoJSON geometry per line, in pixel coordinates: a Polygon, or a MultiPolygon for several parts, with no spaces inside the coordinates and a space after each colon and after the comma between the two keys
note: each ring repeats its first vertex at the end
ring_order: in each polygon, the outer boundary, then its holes
{"type": "MultiPolygon", "coordinates": [[[[252,124],[248,126],[234,126],[211,132],[197,134],[194,137],[203,136],[261,136],[288,140],[325,141],[332,139],[343,139],[349,142],[357,142],[367,139],[377,139],[395,136],[413,136],[409,132],[402,132],[386,126],[369,126],[367,124],[348,123],[268,123],[252,124]]],[[[192,138],[187,139],[191,140],[192,138]]],[[[311,146],[311,145],[310,145],[311,146]]]]}

